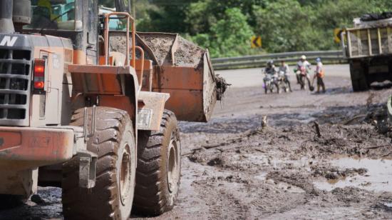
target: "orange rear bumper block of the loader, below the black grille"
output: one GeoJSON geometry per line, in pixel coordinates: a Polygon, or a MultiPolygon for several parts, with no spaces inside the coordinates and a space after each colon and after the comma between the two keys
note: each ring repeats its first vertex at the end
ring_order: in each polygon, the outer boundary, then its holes
{"type": "Polygon", "coordinates": [[[0,127],[0,170],[57,164],[73,156],[70,129],[0,127]]]}

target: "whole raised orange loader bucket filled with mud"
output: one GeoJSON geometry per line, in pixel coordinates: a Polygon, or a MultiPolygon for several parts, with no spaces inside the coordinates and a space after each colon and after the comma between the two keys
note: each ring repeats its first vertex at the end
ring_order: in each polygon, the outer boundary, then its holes
{"type": "Polygon", "coordinates": [[[212,69],[208,50],[178,34],[138,33],[138,38],[138,44],[157,63],[153,91],[170,94],[165,108],[181,121],[207,122],[225,91],[225,82],[212,69]]]}

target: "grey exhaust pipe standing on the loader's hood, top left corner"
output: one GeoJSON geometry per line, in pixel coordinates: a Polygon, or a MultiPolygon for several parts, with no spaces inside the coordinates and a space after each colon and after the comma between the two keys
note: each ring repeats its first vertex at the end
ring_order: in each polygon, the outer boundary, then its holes
{"type": "Polygon", "coordinates": [[[15,32],[12,22],[13,0],[0,1],[0,33],[12,34],[15,32]]]}

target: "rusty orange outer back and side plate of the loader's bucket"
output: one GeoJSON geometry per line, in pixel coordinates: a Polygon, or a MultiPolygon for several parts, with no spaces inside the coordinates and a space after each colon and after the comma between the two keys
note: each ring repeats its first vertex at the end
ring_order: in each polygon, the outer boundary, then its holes
{"type": "Polygon", "coordinates": [[[202,68],[163,66],[155,71],[153,91],[170,93],[165,108],[181,121],[207,122],[217,101],[215,76],[207,53],[202,68]]]}

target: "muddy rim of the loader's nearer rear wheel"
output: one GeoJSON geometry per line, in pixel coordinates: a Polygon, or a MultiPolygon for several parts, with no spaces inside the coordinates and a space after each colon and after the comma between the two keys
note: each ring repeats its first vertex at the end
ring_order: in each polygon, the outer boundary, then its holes
{"type": "Polygon", "coordinates": [[[121,203],[125,206],[126,200],[130,193],[131,184],[131,161],[130,161],[130,149],[128,144],[125,146],[123,151],[123,158],[120,164],[120,199],[121,203]]]}

